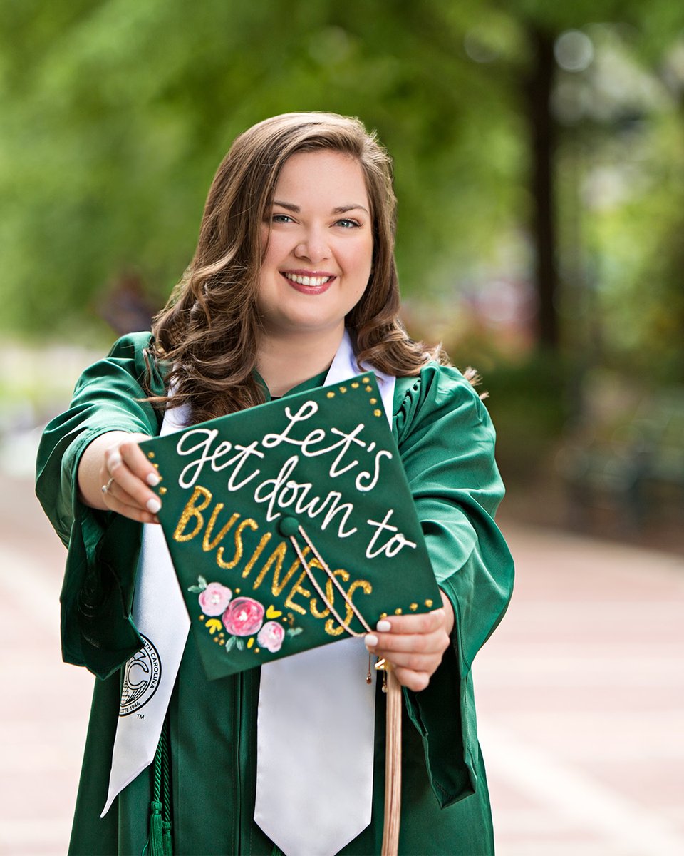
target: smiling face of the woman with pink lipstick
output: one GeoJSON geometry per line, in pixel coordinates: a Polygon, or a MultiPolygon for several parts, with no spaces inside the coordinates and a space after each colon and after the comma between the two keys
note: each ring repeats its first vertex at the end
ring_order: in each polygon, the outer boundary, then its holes
{"type": "Polygon", "coordinates": [[[262,223],[258,306],[267,336],[341,338],[373,260],[373,223],[360,164],[340,152],[288,158],[262,223]]]}

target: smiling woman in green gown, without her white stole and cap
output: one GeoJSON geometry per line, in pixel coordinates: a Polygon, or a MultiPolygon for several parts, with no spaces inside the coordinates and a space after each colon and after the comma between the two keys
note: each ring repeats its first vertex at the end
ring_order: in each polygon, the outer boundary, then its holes
{"type": "MultiPolygon", "coordinates": [[[[250,128],[215,175],[192,264],[152,335],[117,342],[48,425],[37,492],[69,548],[63,656],[102,679],[72,853],[139,853],[148,834],[154,765],[99,817],[121,665],[141,645],[131,619],[141,524],[160,508],[137,443],[160,431],[169,389],[197,423],[323,384],[344,342],[396,377],[392,431],[443,600],[366,637],[404,686],[399,852],[493,852],[470,665],[510,597],[512,562],[492,520],[503,487],[480,399],[398,321],[394,214],[390,160],[357,120],[298,113],[250,128]]],[[[176,853],[280,852],[253,819],[259,679],[251,669],[209,692],[191,634],[168,707],[176,853]]],[[[383,707],[380,693],[371,820],[341,853],[380,852],[383,707]]]]}

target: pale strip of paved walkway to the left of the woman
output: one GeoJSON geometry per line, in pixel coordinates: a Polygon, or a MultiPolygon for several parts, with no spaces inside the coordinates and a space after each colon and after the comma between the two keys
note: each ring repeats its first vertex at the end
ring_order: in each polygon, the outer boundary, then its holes
{"type": "Polygon", "coordinates": [[[0,477],[0,853],[67,852],[93,678],[62,663],[66,550],[27,480],[0,477]]]}

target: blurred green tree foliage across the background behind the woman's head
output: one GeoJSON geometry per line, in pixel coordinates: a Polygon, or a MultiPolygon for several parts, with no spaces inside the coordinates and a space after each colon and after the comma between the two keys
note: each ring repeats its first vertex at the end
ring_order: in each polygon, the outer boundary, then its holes
{"type": "MultiPolygon", "coordinates": [[[[533,34],[553,42],[603,22],[628,76],[655,81],[663,104],[634,107],[623,94],[619,109],[593,116],[585,102],[601,94],[600,63],[574,76],[556,68],[542,105],[558,131],[551,263],[561,290],[551,311],[561,342],[586,343],[577,294],[595,273],[593,311],[621,318],[621,335],[604,334],[602,347],[634,354],[654,338],[675,365],[678,322],[655,298],[646,315],[632,308],[645,277],[672,300],[680,276],[682,87],[666,78],[682,21],[669,0],[0,0],[0,9],[5,329],[70,332],[132,272],[160,306],[192,256],[227,146],[286,110],[335,110],[378,130],[395,158],[405,294],[456,312],[458,295],[487,277],[529,278],[533,34]],[[584,99],[574,118],[554,104],[563,91],[584,99]],[[624,158],[611,159],[629,116],[639,180],[615,205],[584,205],[578,186],[605,163],[630,184],[624,158]]],[[[608,56],[610,39],[596,33],[608,56]]]]}

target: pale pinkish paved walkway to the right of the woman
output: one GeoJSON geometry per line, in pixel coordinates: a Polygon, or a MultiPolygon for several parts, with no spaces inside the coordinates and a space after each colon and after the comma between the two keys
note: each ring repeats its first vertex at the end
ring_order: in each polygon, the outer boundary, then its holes
{"type": "Polygon", "coordinates": [[[499,856],[684,853],[684,560],[504,526],[475,662],[499,856]]]}

